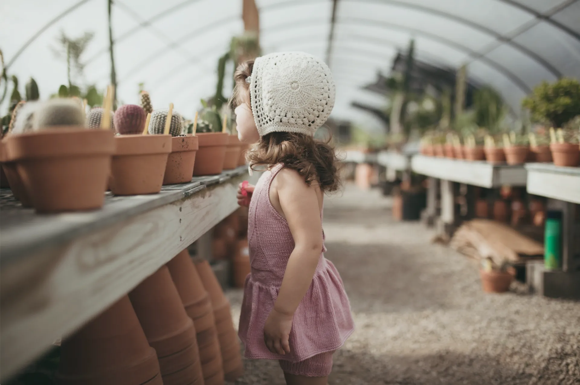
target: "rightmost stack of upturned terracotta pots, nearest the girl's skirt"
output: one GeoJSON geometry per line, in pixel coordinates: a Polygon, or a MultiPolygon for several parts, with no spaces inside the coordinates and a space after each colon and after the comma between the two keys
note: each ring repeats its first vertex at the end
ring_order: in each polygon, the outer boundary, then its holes
{"type": "MultiPolygon", "coordinates": [[[[223,294],[218,279],[213,274],[207,261],[195,264],[204,288],[208,291],[215,317],[220,350],[223,361],[223,373],[228,381],[235,381],[244,373],[240,354],[240,341],[231,319],[230,303],[223,294]]],[[[207,385],[207,382],[206,382],[207,385]]]]}

